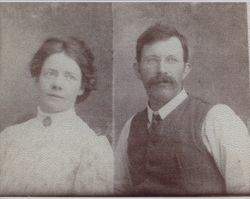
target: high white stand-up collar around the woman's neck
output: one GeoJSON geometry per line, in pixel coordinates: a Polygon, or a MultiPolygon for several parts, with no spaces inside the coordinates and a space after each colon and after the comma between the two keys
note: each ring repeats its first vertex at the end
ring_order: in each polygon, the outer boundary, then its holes
{"type": "Polygon", "coordinates": [[[76,115],[75,109],[71,108],[67,111],[63,112],[58,112],[58,113],[45,113],[41,110],[40,107],[37,107],[37,118],[42,121],[46,117],[50,117],[52,122],[63,122],[63,121],[68,121],[74,118],[76,115]]]}

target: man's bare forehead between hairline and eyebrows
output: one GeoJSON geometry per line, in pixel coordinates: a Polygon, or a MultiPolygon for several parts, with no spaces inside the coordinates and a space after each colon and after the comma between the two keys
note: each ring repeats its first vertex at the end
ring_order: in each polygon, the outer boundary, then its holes
{"type": "Polygon", "coordinates": [[[142,56],[150,54],[175,54],[183,56],[183,48],[181,41],[177,37],[159,39],[151,43],[145,44],[142,49],[142,56]]]}

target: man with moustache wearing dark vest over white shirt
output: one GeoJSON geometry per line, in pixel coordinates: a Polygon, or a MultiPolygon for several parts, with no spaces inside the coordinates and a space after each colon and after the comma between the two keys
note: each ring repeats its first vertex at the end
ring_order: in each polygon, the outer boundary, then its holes
{"type": "Polygon", "coordinates": [[[186,39],[156,24],[137,40],[134,69],[147,107],[125,124],[115,151],[115,187],[129,195],[250,193],[250,138],[226,105],[188,95],[186,39]]]}

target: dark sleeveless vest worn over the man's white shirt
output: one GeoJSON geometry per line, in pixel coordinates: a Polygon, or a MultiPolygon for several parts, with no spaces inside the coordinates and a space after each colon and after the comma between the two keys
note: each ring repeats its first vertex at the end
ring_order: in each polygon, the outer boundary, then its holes
{"type": "Polygon", "coordinates": [[[128,137],[133,194],[225,194],[225,181],[201,137],[211,105],[188,97],[150,134],[147,110],[135,115],[128,137]]]}

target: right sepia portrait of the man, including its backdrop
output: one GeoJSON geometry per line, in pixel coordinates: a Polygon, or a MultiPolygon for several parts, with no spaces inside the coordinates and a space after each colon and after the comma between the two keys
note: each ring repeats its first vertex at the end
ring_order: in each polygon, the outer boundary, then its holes
{"type": "Polygon", "coordinates": [[[113,3],[113,20],[115,193],[249,194],[246,3],[113,3]]]}

